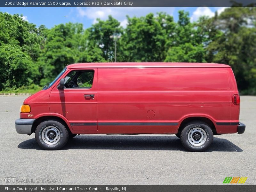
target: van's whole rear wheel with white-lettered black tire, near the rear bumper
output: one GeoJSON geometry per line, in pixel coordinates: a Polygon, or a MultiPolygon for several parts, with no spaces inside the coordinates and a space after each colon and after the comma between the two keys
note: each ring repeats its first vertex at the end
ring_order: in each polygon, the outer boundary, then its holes
{"type": "Polygon", "coordinates": [[[213,132],[211,127],[202,121],[188,123],[180,133],[182,145],[193,152],[206,150],[211,145],[212,140],[213,132]],[[190,136],[188,137],[188,135],[190,136]]]}

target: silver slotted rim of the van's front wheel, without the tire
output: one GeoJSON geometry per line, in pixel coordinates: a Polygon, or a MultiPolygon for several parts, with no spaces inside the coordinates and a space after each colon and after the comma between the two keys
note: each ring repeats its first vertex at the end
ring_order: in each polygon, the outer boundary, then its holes
{"type": "Polygon", "coordinates": [[[53,126],[45,127],[42,132],[42,139],[48,145],[54,145],[60,140],[60,131],[53,126]]]}

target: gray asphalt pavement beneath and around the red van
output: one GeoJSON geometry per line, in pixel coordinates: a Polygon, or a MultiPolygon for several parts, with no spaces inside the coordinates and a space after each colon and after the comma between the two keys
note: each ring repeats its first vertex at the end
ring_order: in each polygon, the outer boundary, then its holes
{"type": "Polygon", "coordinates": [[[15,131],[26,97],[0,96],[1,185],[222,185],[226,177],[256,185],[256,97],[241,96],[244,134],[214,136],[201,153],[186,151],[175,135],[105,134],[76,136],[63,150],[45,151],[34,133],[15,131]]]}

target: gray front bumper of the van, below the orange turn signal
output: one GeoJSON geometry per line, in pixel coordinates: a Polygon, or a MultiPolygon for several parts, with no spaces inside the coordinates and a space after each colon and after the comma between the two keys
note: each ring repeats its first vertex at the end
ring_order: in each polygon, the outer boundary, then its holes
{"type": "Polygon", "coordinates": [[[20,134],[31,134],[32,124],[36,119],[16,119],[15,129],[20,134]]]}

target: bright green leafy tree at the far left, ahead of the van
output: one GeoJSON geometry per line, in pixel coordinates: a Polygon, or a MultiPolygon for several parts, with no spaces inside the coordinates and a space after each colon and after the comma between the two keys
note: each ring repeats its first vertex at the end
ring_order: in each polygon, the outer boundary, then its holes
{"type": "Polygon", "coordinates": [[[40,38],[36,26],[21,17],[0,12],[0,90],[37,83],[40,76],[40,38]]]}

